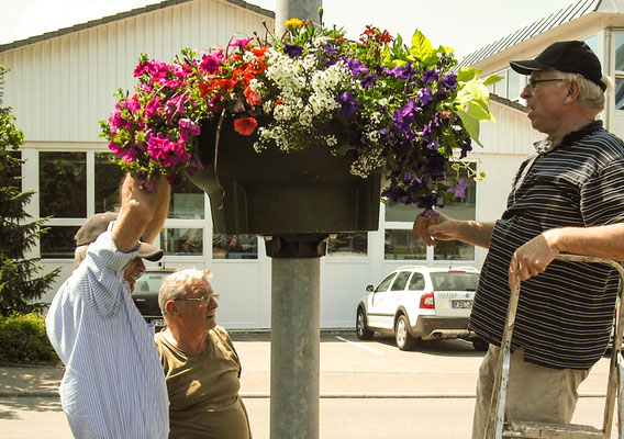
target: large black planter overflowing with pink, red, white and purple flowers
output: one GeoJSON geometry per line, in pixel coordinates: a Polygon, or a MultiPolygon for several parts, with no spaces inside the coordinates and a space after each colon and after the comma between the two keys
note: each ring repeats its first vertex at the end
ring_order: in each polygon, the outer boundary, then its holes
{"type": "Polygon", "coordinates": [[[147,187],[187,175],[210,195],[215,232],[260,235],[376,229],[381,178],[382,196],[435,214],[464,195],[461,167],[481,177],[463,159],[492,119],[495,78],[454,70],[453,50],[419,31],[405,45],[374,26],[358,42],[286,26],[201,58],[142,55],[135,93],[120,90],[101,123],[122,168],[147,187]]]}

